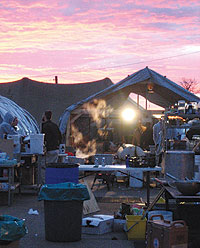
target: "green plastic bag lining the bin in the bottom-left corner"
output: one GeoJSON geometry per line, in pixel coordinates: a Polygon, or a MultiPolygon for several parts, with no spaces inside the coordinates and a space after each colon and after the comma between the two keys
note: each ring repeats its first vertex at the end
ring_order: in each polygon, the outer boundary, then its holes
{"type": "Polygon", "coordinates": [[[25,220],[10,215],[0,216],[0,240],[15,241],[22,238],[28,229],[24,224],[25,220]]]}

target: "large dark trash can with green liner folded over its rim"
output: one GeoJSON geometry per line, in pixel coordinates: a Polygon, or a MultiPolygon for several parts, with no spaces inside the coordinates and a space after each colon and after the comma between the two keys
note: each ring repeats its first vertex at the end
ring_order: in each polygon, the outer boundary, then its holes
{"type": "Polygon", "coordinates": [[[44,200],[45,239],[54,242],[81,240],[83,201],[87,187],[71,182],[45,184],[38,200],[44,200]]]}

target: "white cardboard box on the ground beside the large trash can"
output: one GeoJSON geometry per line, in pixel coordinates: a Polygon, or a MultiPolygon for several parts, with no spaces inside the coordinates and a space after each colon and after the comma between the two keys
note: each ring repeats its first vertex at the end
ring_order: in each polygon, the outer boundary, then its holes
{"type": "Polygon", "coordinates": [[[104,234],[112,232],[114,216],[93,215],[82,219],[82,233],[104,234]]]}

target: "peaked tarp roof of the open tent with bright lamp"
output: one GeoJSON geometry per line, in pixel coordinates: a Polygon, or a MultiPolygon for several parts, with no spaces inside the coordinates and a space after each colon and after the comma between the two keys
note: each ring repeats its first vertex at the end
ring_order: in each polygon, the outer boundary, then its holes
{"type": "Polygon", "coordinates": [[[104,99],[107,105],[111,105],[116,109],[128,98],[130,93],[141,95],[163,108],[167,108],[179,100],[185,100],[186,102],[200,101],[200,98],[193,93],[146,67],[127,76],[120,82],[66,108],[60,117],[61,132],[64,134],[66,131],[70,113],[84,103],[93,99],[104,99]],[[151,93],[148,91],[148,85],[152,86],[151,93]]]}

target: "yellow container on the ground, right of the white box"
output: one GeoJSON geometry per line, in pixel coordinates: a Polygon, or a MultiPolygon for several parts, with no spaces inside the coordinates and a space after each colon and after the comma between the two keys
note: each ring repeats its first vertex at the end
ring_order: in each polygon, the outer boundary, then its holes
{"type": "Polygon", "coordinates": [[[146,218],[140,215],[126,215],[126,232],[128,240],[144,240],[146,234],[146,218]]]}

